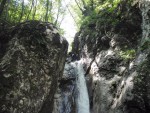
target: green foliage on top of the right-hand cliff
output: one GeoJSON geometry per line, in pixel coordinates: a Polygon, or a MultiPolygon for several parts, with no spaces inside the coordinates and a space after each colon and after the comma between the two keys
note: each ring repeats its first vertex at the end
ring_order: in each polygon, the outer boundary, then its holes
{"type": "MultiPolygon", "coordinates": [[[[91,4],[87,1],[87,9],[85,10],[86,16],[80,16],[81,19],[78,20],[81,26],[88,26],[89,24],[100,25],[103,29],[107,29],[107,27],[114,27],[119,20],[117,19],[118,15],[120,15],[120,11],[118,10],[118,6],[121,0],[94,0],[93,6],[91,9],[91,4]]],[[[81,13],[79,14],[81,15],[81,13]]]]}

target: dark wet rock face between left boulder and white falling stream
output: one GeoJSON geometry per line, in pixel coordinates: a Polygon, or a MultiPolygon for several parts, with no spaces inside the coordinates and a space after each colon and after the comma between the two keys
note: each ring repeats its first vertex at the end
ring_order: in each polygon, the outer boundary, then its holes
{"type": "Polygon", "coordinates": [[[76,65],[66,63],[55,94],[53,113],[76,113],[76,65]]]}

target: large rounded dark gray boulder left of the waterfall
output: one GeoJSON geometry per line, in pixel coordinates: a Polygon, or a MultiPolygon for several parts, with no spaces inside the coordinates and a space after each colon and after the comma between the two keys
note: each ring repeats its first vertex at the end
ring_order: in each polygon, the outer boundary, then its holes
{"type": "Polygon", "coordinates": [[[51,113],[68,43],[50,23],[16,26],[0,59],[0,113],[51,113]]]}

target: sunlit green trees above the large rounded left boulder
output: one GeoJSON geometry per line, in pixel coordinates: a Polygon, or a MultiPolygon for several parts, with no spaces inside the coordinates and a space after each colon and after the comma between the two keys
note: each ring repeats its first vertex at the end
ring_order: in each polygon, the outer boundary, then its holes
{"type": "Polygon", "coordinates": [[[27,20],[41,20],[60,27],[65,11],[62,0],[7,0],[0,20],[12,25],[27,20]]]}

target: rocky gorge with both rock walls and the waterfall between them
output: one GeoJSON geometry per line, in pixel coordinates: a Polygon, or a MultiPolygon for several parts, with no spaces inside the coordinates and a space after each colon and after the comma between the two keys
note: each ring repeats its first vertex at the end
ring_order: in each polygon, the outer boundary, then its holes
{"type": "Polygon", "coordinates": [[[0,113],[150,113],[150,1],[97,4],[70,52],[55,24],[0,21],[0,113]]]}

